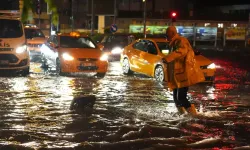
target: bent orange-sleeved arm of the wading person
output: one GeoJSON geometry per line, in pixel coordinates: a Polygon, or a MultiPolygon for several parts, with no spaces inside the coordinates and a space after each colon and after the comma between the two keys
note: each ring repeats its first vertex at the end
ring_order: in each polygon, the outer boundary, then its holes
{"type": "Polygon", "coordinates": [[[172,62],[180,57],[183,57],[188,52],[188,43],[187,41],[180,39],[177,41],[176,46],[178,47],[175,51],[171,52],[165,57],[167,62],[172,62]]]}

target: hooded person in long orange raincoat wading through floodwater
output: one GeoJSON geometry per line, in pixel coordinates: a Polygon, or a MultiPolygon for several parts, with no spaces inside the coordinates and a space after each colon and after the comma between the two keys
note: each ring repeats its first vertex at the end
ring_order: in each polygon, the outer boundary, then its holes
{"type": "Polygon", "coordinates": [[[204,74],[195,61],[189,41],[179,36],[174,26],[168,27],[166,34],[170,42],[170,53],[165,57],[168,87],[173,91],[174,102],[179,112],[182,114],[187,111],[191,115],[196,115],[194,105],[188,101],[187,92],[189,86],[205,80],[204,74]]]}

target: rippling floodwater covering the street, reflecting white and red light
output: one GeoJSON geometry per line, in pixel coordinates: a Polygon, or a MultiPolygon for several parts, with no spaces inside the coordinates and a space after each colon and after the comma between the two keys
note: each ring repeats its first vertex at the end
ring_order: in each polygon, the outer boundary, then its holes
{"type": "Polygon", "coordinates": [[[167,85],[124,76],[118,62],[104,78],[60,77],[32,63],[28,77],[0,78],[0,149],[250,149],[250,70],[211,58],[215,84],[189,91],[197,117],[179,116],[167,85]]]}

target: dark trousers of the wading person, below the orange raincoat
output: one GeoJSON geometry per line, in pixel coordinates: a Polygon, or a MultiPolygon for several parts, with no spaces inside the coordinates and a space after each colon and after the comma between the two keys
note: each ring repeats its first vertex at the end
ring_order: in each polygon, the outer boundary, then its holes
{"type": "Polygon", "coordinates": [[[188,92],[188,87],[174,89],[173,97],[175,105],[177,107],[185,107],[185,108],[191,107],[191,104],[187,99],[187,92],[188,92]]]}

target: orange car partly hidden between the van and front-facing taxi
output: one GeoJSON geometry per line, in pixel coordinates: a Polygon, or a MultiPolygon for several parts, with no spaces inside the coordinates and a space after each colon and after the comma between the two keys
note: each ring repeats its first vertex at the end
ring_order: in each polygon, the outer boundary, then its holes
{"type": "Polygon", "coordinates": [[[40,56],[41,46],[45,43],[46,38],[42,30],[36,25],[26,24],[24,26],[25,37],[27,39],[28,50],[30,51],[30,56],[40,56]]]}

